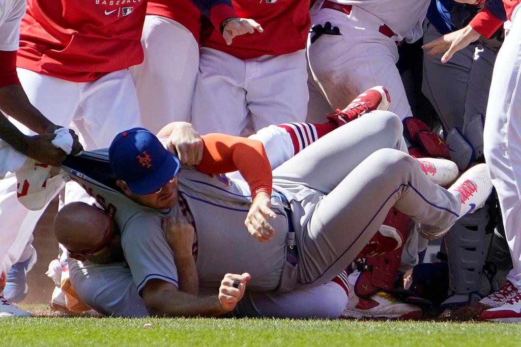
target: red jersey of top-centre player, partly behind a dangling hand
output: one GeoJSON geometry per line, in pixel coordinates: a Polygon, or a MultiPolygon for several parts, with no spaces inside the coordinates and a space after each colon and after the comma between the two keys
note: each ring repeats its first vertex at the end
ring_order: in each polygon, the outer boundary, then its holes
{"type": "Polygon", "coordinates": [[[254,19],[264,32],[237,36],[228,46],[216,26],[209,38],[202,39],[203,46],[240,59],[293,53],[306,47],[310,0],[233,0],[232,5],[238,17],[254,19]]]}

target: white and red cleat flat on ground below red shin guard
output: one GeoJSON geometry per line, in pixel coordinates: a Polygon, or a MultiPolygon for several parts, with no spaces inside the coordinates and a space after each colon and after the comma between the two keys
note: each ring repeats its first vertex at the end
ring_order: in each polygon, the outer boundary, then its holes
{"type": "Polygon", "coordinates": [[[350,318],[395,318],[411,319],[421,317],[421,308],[407,304],[386,292],[378,292],[368,299],[358,298],[354,286],[360,272],[348,277],[349,300],[342,317],[350,318]]]}

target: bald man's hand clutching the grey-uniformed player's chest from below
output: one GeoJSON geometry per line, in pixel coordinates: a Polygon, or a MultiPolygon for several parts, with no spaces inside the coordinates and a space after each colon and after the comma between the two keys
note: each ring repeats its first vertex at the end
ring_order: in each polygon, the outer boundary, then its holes
{"type": "Polygon", "coordinates": [[[161,227],[174,258],[193,258],[194,228],[188,221],[180,217],[164,218],[161,227]]]}

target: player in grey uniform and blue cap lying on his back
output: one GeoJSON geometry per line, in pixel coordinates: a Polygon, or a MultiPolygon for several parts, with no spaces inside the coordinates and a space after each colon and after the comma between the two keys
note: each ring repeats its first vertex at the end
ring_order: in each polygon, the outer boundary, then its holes
{"type": "MultiPolygon", "coordinates": [[[[414,158],[396,150],[401,132],[398,117],[375,112],[307,147],[275,169],[272,180],[269,163],[259,151],[262,148],[251,151],[250,147],[248,156],[240,156],[244,164],[236,156],[240,152],[237,148],[247,148],[244,139],[233,142],[228,137],[232,142],[227,144],[218,135],[204,138],[203,160],[210,155],[208,147],[226,154],[211,157],[215,163],[207,172],[227,171],[230,163],[240,171],[248,162],[257,165],[253,176],[242,172],[248,189],[243,181],[222,181],[188,167],[176,175],[176,158],[168,155],[157,140],[154,142],[154,137],[132,130],[118,135],[110,158],[120,179],[118,187],[139,204],[122,200],[114,188],[100,189],[80,173],[76,179],[101,197],[118,225],[123,226],[123,252],[151,314],[220,315],[231,311],[242,298],[246,281],[250,290],[279,292],[314,288],[329,281],[362,250],[393,205],[423,222],[424,232],[439,233],[485,201],[491,185],[484,166],[468,171],[451,189],[440,188],[425,176],[414,158]],[[135,142],[142,136],[148,140],[135,142]],[[129,147],[133,143],[144,147],[129,147]],[[147,172],[154,160],[160,168],[147,172]],[[140,177],[134,176],[136,173],[140,177]],[[254,192],[253,203],[250,191],[254,192]],[[291,201],[288,212],[282,205],[286,199],[291,201]],[[183,212],[196,229],[199,286],[215,288],[222,274],[243,274],[251,269],[251,276],[228,277],[241,283],[239,288],[231,288],[230,281],[225,283],[221,299],[230,305],[222,306],[216,296],[200,298],[178,290],[175,259],[161,224],[164,216],[181,216],[183,212]],[[277,218],[268,224],[267,218],[274,215],[277,218]],[[248,230],[263,242],[255,242],[244,232],[246,216],[248,230]],[[288,223],[289,218],[292,223],[288,223]],[[299,252],[291,254],[295,249],[299,252]]],[[[204,164],[197,167],[205,171],[204,164]]]]}

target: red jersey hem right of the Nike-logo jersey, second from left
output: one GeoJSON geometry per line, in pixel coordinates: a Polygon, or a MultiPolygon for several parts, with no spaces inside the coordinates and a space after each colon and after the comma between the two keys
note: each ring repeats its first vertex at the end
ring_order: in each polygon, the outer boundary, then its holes
{"type": "Polygon", "coordinates": [[[175,20],[190,30],[199,42],[201,11],[190,0],[148,0],[146,14],[175,20]]]}

